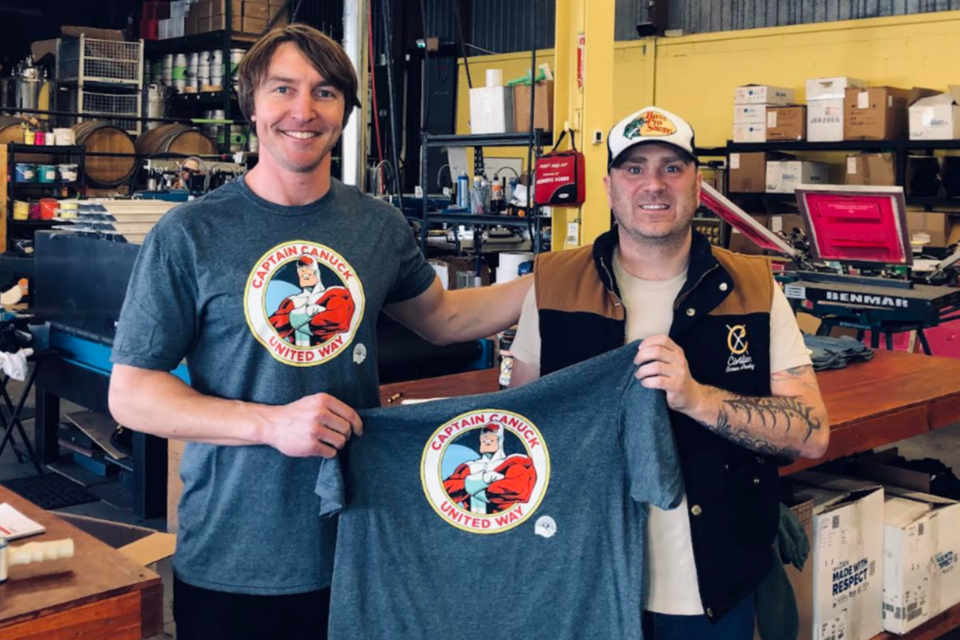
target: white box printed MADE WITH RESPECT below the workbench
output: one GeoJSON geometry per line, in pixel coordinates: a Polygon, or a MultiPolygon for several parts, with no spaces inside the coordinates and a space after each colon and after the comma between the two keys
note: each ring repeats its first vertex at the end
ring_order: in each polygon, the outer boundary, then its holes
{"type": "Polygon", "coordinates": [[[883,488],[802,471],[791,478],[813,500],[813,638],[871,640],[883,630],[883,488]]]}

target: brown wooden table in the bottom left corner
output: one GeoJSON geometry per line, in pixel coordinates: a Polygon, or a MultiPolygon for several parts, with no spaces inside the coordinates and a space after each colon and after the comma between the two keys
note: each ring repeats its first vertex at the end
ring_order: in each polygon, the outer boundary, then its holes
{"type": "Polygon", "coordinates": [[[0,584],[0,638],[140,640],[163,632],[160,576],[0,487],[2,502],[47,528],[12,545],[73,538],[75,551],[70,559],[10,569],[0,584]]]}

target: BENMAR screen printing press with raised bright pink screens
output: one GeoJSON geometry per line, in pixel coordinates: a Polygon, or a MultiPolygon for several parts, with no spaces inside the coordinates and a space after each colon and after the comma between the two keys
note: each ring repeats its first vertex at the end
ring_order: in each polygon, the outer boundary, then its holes
{"type": "Polygon", "coordinates": [[[916,331],[931,355],[924,330],[960,319],[960,252],[924,275],[911,269],[901,187],[803,185],[797,201],[808,245],[788,242],[709,185],[702,201],[758,246],[790,261],[777,279],[795,310],[820,319],[818,335],[849,327],[860,340],[870,331],[873,348],[883,335],[892,349],[894,334],[916,331]]]}

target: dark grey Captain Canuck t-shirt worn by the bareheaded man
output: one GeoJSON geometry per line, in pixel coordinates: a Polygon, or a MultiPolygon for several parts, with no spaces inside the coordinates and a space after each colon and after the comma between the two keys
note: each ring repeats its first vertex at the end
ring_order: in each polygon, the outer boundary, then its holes
{"type": "MultiPolygon", "coordinates": [[[[320,392],[379,406],[376,319],[435,275],[394,207],[334,181],[279,206],[243,179],[176,207],[140,250],[112,361],[187,360],[208,396],[269,405],[320,392]]],[[[319,458],[188,444],[174,569],[190,584],[289,594],[330,584],[336,523],[319,509],[319,458]]]]}

